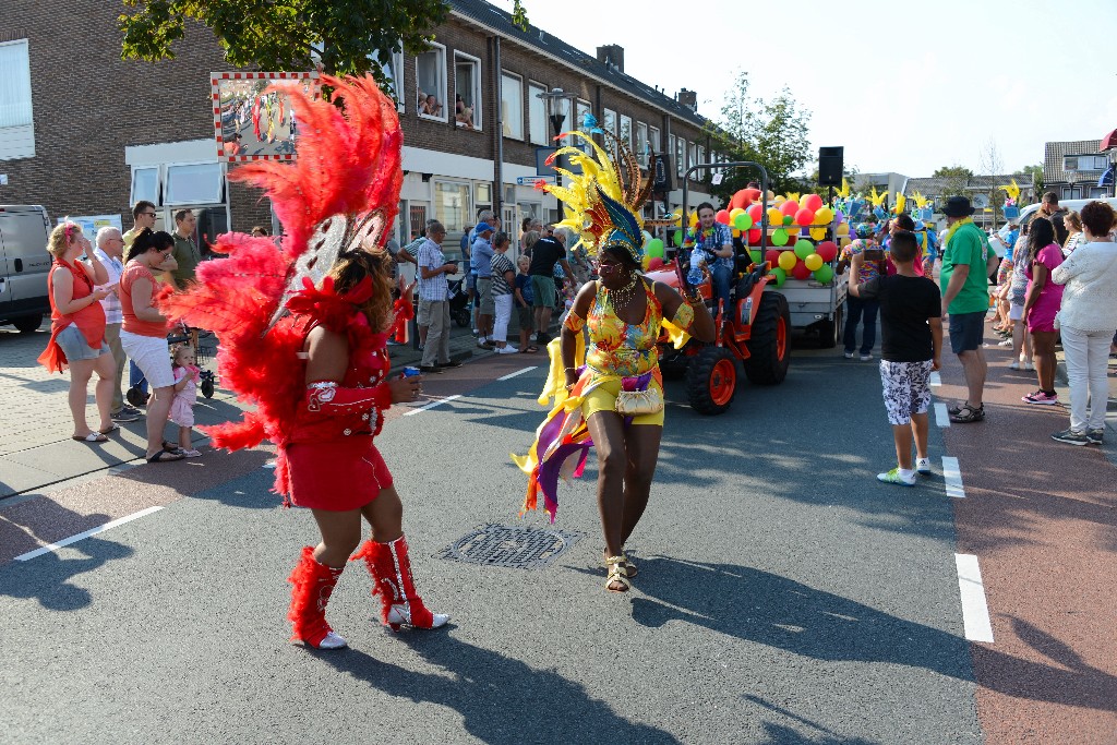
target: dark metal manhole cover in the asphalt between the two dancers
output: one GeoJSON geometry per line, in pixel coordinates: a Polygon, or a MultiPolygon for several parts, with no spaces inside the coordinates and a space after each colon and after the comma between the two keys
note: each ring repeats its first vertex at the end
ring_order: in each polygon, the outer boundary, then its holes
{"type": "Polygon", "coordinates": [[[469,564],[541,569],[564,554],[581,537],[580,533],[490,523],[458,538],[438,556],[469,564]]]}

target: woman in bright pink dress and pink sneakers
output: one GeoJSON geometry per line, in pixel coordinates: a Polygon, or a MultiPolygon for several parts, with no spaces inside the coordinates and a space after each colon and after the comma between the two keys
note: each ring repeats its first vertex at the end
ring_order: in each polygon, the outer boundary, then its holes
{"type": "Polygon", "coordinates": [[[1051,281],[1051,273],[1062,264],[1062,249],[1056,242],[1051,221],[1047,218],[1032,220],[1028,231],[1028,268],[1024,270],[1028,276],[1024,318],[1032,337],[1040,390],[1021,397],[1025,403],[1059,403],[1059,395],[1054,392],[1054,342],[1059,336],[1054,316],[1062,304],[1062,285],[1051,281]]]}

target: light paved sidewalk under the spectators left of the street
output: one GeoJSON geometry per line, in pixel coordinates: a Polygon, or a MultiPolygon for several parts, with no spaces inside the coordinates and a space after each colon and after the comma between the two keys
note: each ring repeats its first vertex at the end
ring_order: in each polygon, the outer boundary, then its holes
{"type": "MultiPolygon", "coordinates": [[[[0,329],[0,499],[38,491],[73,478],[122,469],[143,462],[146,443],[144,420],[121,424],[108,442],[86,445],[70,439],[74,422],[66,397],[69,374],[49,374],[36,362],[49,338],[49,325],[32,334],[0,329]]],[[[509,329],[509,334],[512,334],[509,329]]],[[[389,346],[392,366],[418,365],[421,352],[413,345],[389,346]]],[[[450,331],[450,357],[457,361],[493,354],[477,347],[469,328],[450,331]]],[[[211,364],[212,370],[214,366],[211,364]]],[[[125,385],[127,375],[125,375],[125,385]]],[[[97,414],[89,385],[87,417],[96,427],[97,414]]],[[[235,397],[221,389],[212,399],[198,397],[194,418],[199,426],[233,419],[244,409],[235,397]]],[[[169,439],[175,439],[173,428],[169,439]]],[[[208,438],[194,431],[194,441],[208,438]]]]}

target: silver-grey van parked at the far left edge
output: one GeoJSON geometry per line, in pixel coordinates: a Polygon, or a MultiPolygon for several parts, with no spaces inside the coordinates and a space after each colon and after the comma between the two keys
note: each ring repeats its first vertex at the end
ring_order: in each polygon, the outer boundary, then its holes
{"type": "Polygon", "coordinates": [[[0,324],[11,324],[25,334],[50,314],[49,233],[44,208],[0,204],[0,324]]]}

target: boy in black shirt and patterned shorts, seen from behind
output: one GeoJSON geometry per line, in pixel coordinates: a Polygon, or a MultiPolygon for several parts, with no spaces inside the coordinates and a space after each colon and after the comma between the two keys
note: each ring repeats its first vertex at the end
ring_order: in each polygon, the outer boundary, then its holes
{"type": "Polygon", "coordinates": [[[880,300],[880,381],[885,408],[896,441],[897,467],[877,478],[886,484],[915,486],[916,471],[930,472],[927,458],[927,408],[930,405],[930,372],[941,366],[943,350],[943,302],[938,286],[915,273],[919,242],[915,233],[901,230],[892,236],[891,257],[896,274],[860,284],[863,256],[853,256],[849,293],[862,299],[880,300]],[[911,468],[911,439],[916,464],[911,468]]]}

